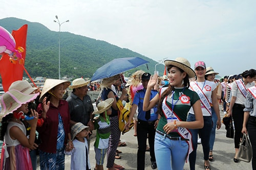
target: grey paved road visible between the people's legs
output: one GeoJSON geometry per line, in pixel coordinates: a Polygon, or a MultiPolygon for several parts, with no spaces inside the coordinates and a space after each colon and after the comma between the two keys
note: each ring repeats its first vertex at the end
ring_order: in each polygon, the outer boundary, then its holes
{"type": "MultiPolygon", "coordinates": [[[[223,116],[223,112],[221,112],[221,116],[223,116]]],[[[121,139],[124,140],[127,144],[126,147],[119,147],[118,150],[122,151],[121,159],[116,159],[115,163],[120,164],[125,167],[125,169],[134,170],[137,167],[137,138],[133,136],[134,130],[132,129],[130,132],[121,135],[121,139]]],[[[234,143],[233,139],[226,138],[226,130],[225,126],[222,124],[220,130],[216,131],[216,140],[214,145],[214,161],[210,162],[212,170],[222,170],[222,169],[243,169],[248,170],[251,169],[251,162],[243,162],[240,161],[239,163],[234,163],[233,156],[234,156],[234,143]]],[[[94,138],[91,140],[91,147],[90,147],[90,162],[91,162],[91,169],[95,167],[95,154],[93,148],[94,138]]],[[[151,162],[150,162],[150,154],[146,152],[145,158],[145,169],[152,169],[151,162]]],[[[203,152],[202,152],[202,145],[198,145],[197,149],[197,162],[196,162],[196,169],[204,169],[204,161],[203,161],[203,152]]],[[[104,169],[106,165],[106,161],[104,162],[104,169]]],[[[39,167],[38,167],[39,169],[39,167]]],[[[70,157],[66,157],[66,169],[70,169],[70,157]]],[[[189,164],[185,163],[184,170],[189,169],[189,164]]],[[[175,170],[175,169],[174,169],[175,170]]]]}

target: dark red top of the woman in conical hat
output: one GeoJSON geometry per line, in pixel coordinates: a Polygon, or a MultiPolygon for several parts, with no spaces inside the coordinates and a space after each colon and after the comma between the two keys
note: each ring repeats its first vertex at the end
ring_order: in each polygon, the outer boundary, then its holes
{"type": "MultiPolygon", "coordinates": [[[[42,104],[37,107],[39,118],[41,118],[42,104]]],[[[70,133],[70,114],[69,105],[67,101],[60,100],[59,106],[55,107],[50,103],[50,108],[46,113],[44,124],[41,127],[37,127],[36,130],[39,134],[41,143],[39,149],[43,152],[56,153],[57,149],[57,134],[58,134],[58,113],[60,113],[65,130],[65,142],[67,143],[68,133],[70,133]]],[[[64,146],[63,146],[64,147],[64,146]]]]}

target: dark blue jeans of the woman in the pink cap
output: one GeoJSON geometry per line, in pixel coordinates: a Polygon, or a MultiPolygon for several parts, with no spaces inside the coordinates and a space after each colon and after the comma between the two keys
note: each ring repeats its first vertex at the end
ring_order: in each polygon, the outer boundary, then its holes
{"type": "MultiPolygon", "coordinates": [[[[204,127],[202,129],[189,129],[192,134],[192,143],[194,151],[189,154],[189,167],[190,170],[195,170],[196,159],[197,159],[197,138],[198,131],[201,133],[201,142],[203,146],[204,160],[209,159],[210,152],[210,131],[212,129],[212,119],[211,116],[203,116],[204,118],[204,127]]],[[[193,122],[196,120],[194,114],[188,113],[187,122],[193,122]]]]}

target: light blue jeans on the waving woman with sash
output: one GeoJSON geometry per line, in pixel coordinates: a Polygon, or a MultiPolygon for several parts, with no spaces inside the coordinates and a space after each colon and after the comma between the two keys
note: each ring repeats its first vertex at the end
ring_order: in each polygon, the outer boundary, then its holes
{"type": "Polygon", "coordinates": [[[185,140],[170,140],[156,133],[155,155],[158,170],[183,170],[188,144],[185,140]]]}

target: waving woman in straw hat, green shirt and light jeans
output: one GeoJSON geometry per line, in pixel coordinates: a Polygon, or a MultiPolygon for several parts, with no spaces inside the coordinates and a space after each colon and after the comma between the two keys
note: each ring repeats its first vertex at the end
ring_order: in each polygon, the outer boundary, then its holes
{"type": "Polygon", "coordinates": [[[155,155],[159,170],[182,170],[188,154],[193,151],[189,129],[203,127],[203,116],[200,98],[188,89],[189,78],[195,77],[190,63],[184,58],[164,61],[169,78],[168,87],[160,89],[150,101],[151,89],[158,82],[154,75],[148,82],[143,102],[143,110],[147,111],[158,105],[161,115],[155,137],[155,155]],[[195,121],[186,122],[187,112],[193,107],[195,121]]]}

